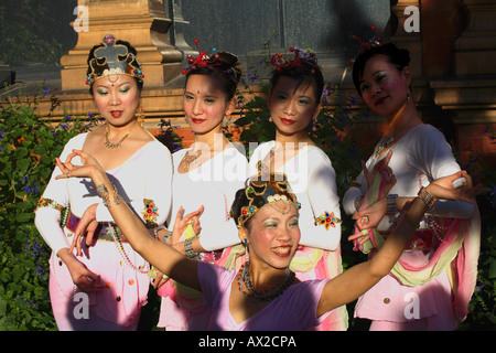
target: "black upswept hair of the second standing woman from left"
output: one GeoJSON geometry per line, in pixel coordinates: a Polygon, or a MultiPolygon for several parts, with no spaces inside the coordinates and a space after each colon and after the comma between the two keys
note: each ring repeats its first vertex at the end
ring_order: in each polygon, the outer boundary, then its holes
{"type": "Polygon", "coordinates": [[[186,74],[186,83],[191,75],[206,75],[216,79],[227,95],[227,101],[236,96],[241,79],[241,63],[231,53],[219,52],[209,60],[215,65],[194,67],[186,74]]]}

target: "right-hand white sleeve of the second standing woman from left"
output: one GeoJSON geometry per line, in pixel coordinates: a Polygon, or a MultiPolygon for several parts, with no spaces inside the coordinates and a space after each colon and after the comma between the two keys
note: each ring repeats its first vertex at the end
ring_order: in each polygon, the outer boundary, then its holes
{"type": "MultiPolygon", "coordinates": [[[[224,182],[219,190],[224,197],[225,218],[218,222],[208,233],[200,235],[200,244],[207,252],[220,250],[239,244],[238,228],[234,220],[229,218],[229,211],[233,205],[236,192],[245,188],[245,181],[248,178],[248,161],[245,156],[237,150],[227,152],[230,158],[224,165],[224,182]]],[[[202,222],[202,220],[200,220],[202,222]]]]}

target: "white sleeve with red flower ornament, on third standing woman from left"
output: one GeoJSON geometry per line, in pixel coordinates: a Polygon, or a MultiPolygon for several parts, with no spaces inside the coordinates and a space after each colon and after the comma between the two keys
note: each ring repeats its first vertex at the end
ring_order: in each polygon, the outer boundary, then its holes
{"type": "Polygon", "coordinates": [[[309,156],[308,196],[314,224],[300,224],[301,245],[336,250],[341,240],[341,208],[336,173],[322,150],[309,156]]]}

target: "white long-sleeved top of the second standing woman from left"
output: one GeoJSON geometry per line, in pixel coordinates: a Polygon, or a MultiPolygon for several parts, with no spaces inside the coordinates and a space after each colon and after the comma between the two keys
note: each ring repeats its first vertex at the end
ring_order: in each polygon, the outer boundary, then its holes
{"type": "Polygon", "coordinates": [[[174,227],[179,208],[184,208],[184,215],[205,207],[200,223],[202,232],[200,244],[208,252],[224,249],[238,244],[238,229],[229,211],[236,192],[245,188],[248,161],[233,146],[191,170],[179,173],[177,168],[190,149],[183,149],[172,154],[174,163],[173,201],[169,228],[174,227]]]}

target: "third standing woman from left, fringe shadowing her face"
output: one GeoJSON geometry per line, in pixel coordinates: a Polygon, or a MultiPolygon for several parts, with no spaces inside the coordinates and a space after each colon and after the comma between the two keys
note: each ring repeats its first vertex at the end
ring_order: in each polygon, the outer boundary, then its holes
{"type": "MultiPolygon", "coordinates": [[[[341,260],[341,208],[336,173],[327,154],[308,133],[321,111],[324,77],[313,53],[290,49],[294,58],[276,54],[268,106],[276,140],[260,145],[250,158],[250,173],[259,161],[284,173],[301,203],[301,240],[291,269],[300,280],[334,278],[341,260]]],[[[319,330],[342,331],[346,308],[333,311],[319,330]]]]}

